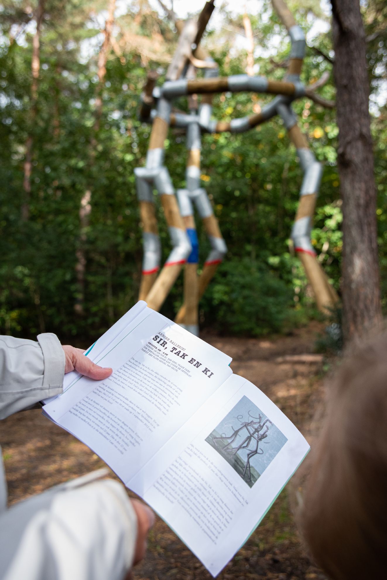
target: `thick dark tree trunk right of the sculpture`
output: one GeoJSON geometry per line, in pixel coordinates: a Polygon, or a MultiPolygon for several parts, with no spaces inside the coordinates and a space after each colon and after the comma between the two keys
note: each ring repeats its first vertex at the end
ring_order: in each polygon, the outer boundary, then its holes
{"type": "Polygon", "coordinates": [[[359,0],[331,2],[343,211],[343,331],[348,340],[381,319],[376,191],[366,38],[359,0]]]}

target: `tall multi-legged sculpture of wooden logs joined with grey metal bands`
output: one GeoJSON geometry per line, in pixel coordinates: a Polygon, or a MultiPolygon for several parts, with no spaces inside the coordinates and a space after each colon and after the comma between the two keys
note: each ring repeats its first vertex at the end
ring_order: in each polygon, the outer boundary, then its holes
{"type": "Polygon", "coordinates": [[[322,99],[315,94],[315,89],[321,86],[326,78],[322,78],[310,87],[305,87],[301,83],[300,72],[305,53],[304,32],[295,23],[283,0],[272,0],[272,5],[286,26],[291,39],[289,66],[283,81],[271,81],[265,77],[248,75],[218,77],[217,64],[199,46],[214,9],[213,0],[206,2],[198,20],[187,21],[176,20],[173,12],[167,10],[162,4],[169,16],[175,20],[179,38],[176,52],[167,70],[165,83],[161,87],[155,86],[155,75],[149,74],[141,99],[140,117],[143,121],[152,122],[152,131],[146,165],[135,170],[144,244],[139,298],[145,300],[152,309],[159,310],[185,264],[184,303],[177,313],[176,322],[195,334],[198,334],[199,299],[214,276],[218,264],[227,253],[227,247],[206,191],[200,187],[202,133],[249,131],[275,115],[282,117],[304,171],[300,204],[291,232],[294,248],[304,265],[319,309],[330,310],[337,301],[337,295],[316,259],[310,239],[322,166],[309,149],[308,142],[298,128],[297,118],[291,109],[291,102],[303,96],[321,103],[322,99]],[[205,78],[195,79],[196,68],[204,69],[205,78]],[[213,94],[225,91],[270,93],[275,97],[258,114],[233,119],[231,122],[214,121],[211,119],[213,94]],[[171,113],[173,100],[185,95],[188,97],[189,114],[171,113]],[[199,105],[197,95],[202,95],[199,105]],[[177,191],[177,197],[169,172],[163,164],[164,142],[170,126],[184,128],[187,132],[187,186],[186,189],[177,191]],[[172,245],[170,255],[160,271],[161,252],[152,194],[153,187],[160,195],[172,245]],[[193,205],[203,220],[211,244],[210,254],[199,277],[197,275],[198,237],[193,205]]]}

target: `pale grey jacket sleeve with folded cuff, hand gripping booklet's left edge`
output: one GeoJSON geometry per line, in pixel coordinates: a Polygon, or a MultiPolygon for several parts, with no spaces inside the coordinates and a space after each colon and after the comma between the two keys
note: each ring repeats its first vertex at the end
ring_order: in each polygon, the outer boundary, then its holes
{"type": "Polygon", "coordinates": [[[0,335],[0,419],[63,390],[65,357],[47,332],[38,342],[0,335]]]}

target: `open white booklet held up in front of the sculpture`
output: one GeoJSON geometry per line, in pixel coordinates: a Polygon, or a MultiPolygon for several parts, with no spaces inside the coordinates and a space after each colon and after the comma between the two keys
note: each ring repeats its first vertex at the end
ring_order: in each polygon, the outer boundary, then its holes
{"type": "MultiPolygon", "coordinates": [[[[138,302],[44,407],[144,499],[216,576],[309,451],[231,358],[138,302]]],[[[70,375],[70,374],[69,374],[70,375]]]]}

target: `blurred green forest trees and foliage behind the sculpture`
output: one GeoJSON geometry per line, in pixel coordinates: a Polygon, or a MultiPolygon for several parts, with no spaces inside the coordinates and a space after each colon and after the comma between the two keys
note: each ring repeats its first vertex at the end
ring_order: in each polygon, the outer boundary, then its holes
{"type": "MultiPolygon", "coordinates": [[[[327,3],[319,0],[294,0],[290,8],[307,33],[302,77],[310,84],[333,70],[331,16],[327,3]]],[[[108,0],[0,2],[0,333],[53,331],[72,342],[75,335],[79,341],[91,340],[136,301],[142,249],[133,169],[144,163],[149,137],[149,126],[137,118],[139,96],[149,68],[161,75],[166,70],[176,34],[153,0],[117,3],[111,24],[108,9],[108,0]],[[101,53],[106,57],[103,75],[101,53]],[[92,203],[86,200],[82,206],[87,191],[92,203]]],[[[368,0],[362,11],[385,306],[385,3],[368,0]]],[[[238,13],[223,5],[210,21],[204,44],[221,74],[244,73],[249,66],[255,74],[282,78],[290,46],[269,2],[249,2],[246,16],[242,6],[238,13]]],[[[335,98],[332,75],[321,94],[335,98]]],[[[265,100],[221,95],[214,115],[229,120],[251,109],[257,113],[265,100]]],[[[184,99],[178,106],[187,107],[184,99]]],[[[308,99],[298,100],[294,108],[324,164],[312,240],[339,290],[342,218],[335,110],[308,99]]],[[[166,164],[174,185],[183,186],[184,135],[178,130],[170,133],[166,164]]],[[[318,316],[289,241],[301,170],[282,122],[275,118],[243,135],[206,135],[202,171],[229,248],[200,305],[202,327],[259,335],[286,332],[318,316]]],[[[166,254],[166,227],[161,235],[166,254]]],[[[199,238],[204,258],[209,248],[200,230],[199,238]]],[[[173,316],[181,298],[177,284],[163,313],[173,316]]]]}

